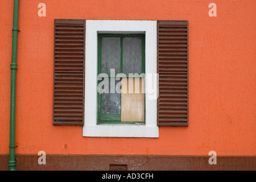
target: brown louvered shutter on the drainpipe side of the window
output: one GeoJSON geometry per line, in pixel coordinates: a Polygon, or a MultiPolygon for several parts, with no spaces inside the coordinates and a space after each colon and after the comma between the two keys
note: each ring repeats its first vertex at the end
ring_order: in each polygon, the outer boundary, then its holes
{"type": "Polygon", "coordinates": [[[84,124],[85,20],[55,19],[53,125],[84,124]]]}

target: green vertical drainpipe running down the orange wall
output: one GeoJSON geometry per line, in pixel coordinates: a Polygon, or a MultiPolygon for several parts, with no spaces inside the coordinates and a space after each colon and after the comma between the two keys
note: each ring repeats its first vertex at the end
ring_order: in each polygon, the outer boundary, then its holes
{"type": "Polygon", "coordinates": [[[11,52],[11,105],[10,105],[10,160],[9,170],[16,171],[15,160],[15,107],[16,107],[16,69],[18,42],[19,0],[14,0],[13,10],[13,48],[11,52]]]}

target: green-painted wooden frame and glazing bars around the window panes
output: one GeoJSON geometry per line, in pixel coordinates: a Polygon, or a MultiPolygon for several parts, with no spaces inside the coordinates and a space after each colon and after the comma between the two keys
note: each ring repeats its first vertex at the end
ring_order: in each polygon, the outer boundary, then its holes
{"type": "MultiPolygon", "coordinates": [[[[120,38],[120,42],[121,42],[121,58],[120,58],[120,73],[123,72],[123,63],[122,63],[122,52],[123,52],[123,38],[141,38],[142,40],[142,74],[139,76],[133,76],[133,77],[143,77],[144,78],[144,74],[145,74],[145,34],[98,34],[98,75],[101,73],[101,42],[102,42],[102,38],[120,38]],[[144,74],[143,74],[144,73],[144,74]]],[[[127,74],[125,74],[127,78],[131,77],[127,74]]],[[[108,77],[119,77],[116,73],[115,75],[108,75],[108,77]]],[[[146,81],[144,81],[145,83],[146,81]]],[[[97,85],[99,85],[101,83],[101,80],[97,81],[97,85]]],[[[101,86],[100,86],[101,88],[101,86]]],[[[97,124],[136,124],[136,123],[140,123],[140,124],[144,124],[146,122],[146,105],[145,105],[145,100],[146,100],[146,94],[144,93],[144,122],[121,122],[121,111],[120,114],[102,114],[101,113],[101,96],[102,94],[97,92],[97,124]]],[[[121,94],[120,94],[121,97],[121,94]]],[[[121,101],[122,98],[120,98],[121,101]]],[[[122,110],[122,106],[121,106],[121,110],[122,110]]]]}

